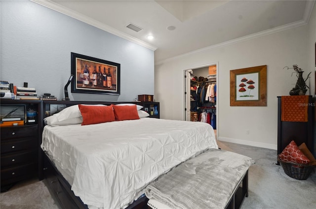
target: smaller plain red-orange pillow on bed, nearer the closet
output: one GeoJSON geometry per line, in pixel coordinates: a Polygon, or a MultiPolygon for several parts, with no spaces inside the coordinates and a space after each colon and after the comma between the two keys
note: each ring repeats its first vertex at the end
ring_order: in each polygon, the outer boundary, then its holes
{"type": "Polygon", "coordinates": [[[135,105],[113,105],[115,120],[136,120],[139,119],[135,105]]]}

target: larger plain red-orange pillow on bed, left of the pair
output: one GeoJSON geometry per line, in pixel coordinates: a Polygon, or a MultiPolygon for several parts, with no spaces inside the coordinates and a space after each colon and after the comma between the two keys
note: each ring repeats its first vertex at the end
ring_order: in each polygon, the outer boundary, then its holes
{"type": "Polygon", "coordinates": [[[79,104],[83,125],[115,121],[113,106],[96,106],[79,104]]]}

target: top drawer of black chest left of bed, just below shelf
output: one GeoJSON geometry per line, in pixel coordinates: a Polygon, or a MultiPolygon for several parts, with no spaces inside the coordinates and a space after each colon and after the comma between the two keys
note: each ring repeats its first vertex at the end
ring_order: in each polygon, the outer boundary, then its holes
{"type": "Polygon", "coordinates": [[[38,136],[38,125],[17,126],[1,128],[1,141],[3,139],[16,139],[38,136]]]}

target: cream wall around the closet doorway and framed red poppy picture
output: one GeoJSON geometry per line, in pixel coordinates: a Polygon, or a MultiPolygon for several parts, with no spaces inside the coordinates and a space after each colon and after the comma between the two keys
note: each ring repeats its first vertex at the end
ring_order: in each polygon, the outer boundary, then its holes
{"type": "MultiPolygon", "coordinates": [[[[315,8],[314,8],[315,13],[315,8]]],[[[315,19],[315,14],[313,17],[315,19]]],[[[311,21],[315,24],[315,20],[311,21]]],[[[292,70],[297,64],[305,77],[311,69],[309,26],[257,37],[243,42],[170,59],[155,66],[155,96],[160,102],[160,117],[182,120],[183,70],[218,62],[218,124],[220,140],[277,148],[277,96],[289,95],[296,83],[292,70]],[[230,106],[230,70],[267,65],[267,106],[230,106]],[[170,99],[172,98],[172,99],[170,99]],[[249,134],[246,134],[249,130],[249,134]]],[[[314,39],[315,35],[311,37],[314,39]]],[[[315,53],[315,52],[314,52],[315,53]]],[[[315,63],[315,57],[313,63],[315,63]]],[[[313,74],[313,73],[312,73],[313,74]]],[[[314,75],[314,74],[313,74],[314,75]]],[[[311,79],[312,80],[312,79],[311,79]]],[[[311,89],[315,84],[310,84],[311,89]]],[[[311,94],[308,91],[307,94],[311,94]]]]}

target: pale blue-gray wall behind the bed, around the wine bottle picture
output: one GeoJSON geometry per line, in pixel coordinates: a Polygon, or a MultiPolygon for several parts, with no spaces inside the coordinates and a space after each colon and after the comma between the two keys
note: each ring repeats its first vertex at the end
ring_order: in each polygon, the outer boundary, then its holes
{"type": "Polygon", "coordinates": [[[71,52],[120,64],[120,95],[70,93],[76,101],[133,101],[154,94],[154,51],[31,1],[0,1],[0,80],[64,98],[71,52]],[[146,79],[144,79],[146,78],[146,79]]]}

